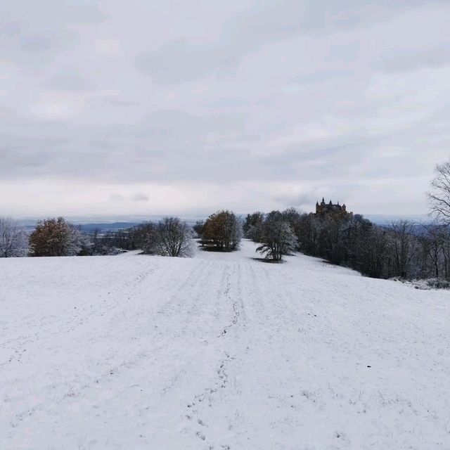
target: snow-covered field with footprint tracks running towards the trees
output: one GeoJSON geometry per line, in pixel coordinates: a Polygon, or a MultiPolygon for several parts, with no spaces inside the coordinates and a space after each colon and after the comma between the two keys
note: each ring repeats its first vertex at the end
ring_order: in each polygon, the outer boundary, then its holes
{"type": "Polygon", "coordinates": [[[0,449],[450,449],[450,294],[302,255],[0,259],[0,449]]]}

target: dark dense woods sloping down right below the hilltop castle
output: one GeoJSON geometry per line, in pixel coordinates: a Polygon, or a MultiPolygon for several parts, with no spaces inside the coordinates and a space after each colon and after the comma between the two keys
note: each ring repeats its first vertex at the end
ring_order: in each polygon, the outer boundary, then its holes
{"type": "Polygon", "coordinates": [[[373,224],[359,214],[316,217],[290,208],[245,219],[244,233],[281,260],[293,250],[347,266],[372,278],[442,278],[450,281],[450,226],[432,222],[373,224]]]}

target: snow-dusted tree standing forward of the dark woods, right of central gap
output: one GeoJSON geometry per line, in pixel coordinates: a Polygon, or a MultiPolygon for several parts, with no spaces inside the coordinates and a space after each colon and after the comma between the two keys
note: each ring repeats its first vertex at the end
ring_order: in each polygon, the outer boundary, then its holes
{"type": "Polygon", "coordinates": [[[266,259],[281,261],[297,248],[297,238],[283,216],[278,211],[267,214],[262,228],[262,245],[256,251],[265,255],[266,259]]]}

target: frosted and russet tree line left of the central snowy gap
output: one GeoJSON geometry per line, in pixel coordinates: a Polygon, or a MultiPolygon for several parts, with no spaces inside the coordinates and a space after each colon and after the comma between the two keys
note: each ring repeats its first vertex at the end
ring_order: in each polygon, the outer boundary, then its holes
{"type": "MultiPolygon", "coordinates": [[[[202,228],[204,250],[238,249],[242,225],[233,212],[211,214],[202,228]]],[[[96,229],[88,234],[82,232],[81,226],[55,217],[38,221],[36,229],[27,233],[18,221],[0,217],[0,257],[116,255],[127,250],[141,250],[146,255],[191,257],[195,252],[193,237],[200,236],[197,232],[198,227],[191,227],[178,217],[165,217],[118,231],[102,233],[96,229]]]]}

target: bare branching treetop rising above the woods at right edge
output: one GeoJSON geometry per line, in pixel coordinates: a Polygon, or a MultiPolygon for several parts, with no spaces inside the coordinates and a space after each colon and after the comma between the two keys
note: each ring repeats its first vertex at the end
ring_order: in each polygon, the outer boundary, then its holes
{"type": "Polygon", "coordinates": [[[450,224],[450,160],[438,164],[435,174],[428,192],[430,212],[437,219],[450,224]]]}

